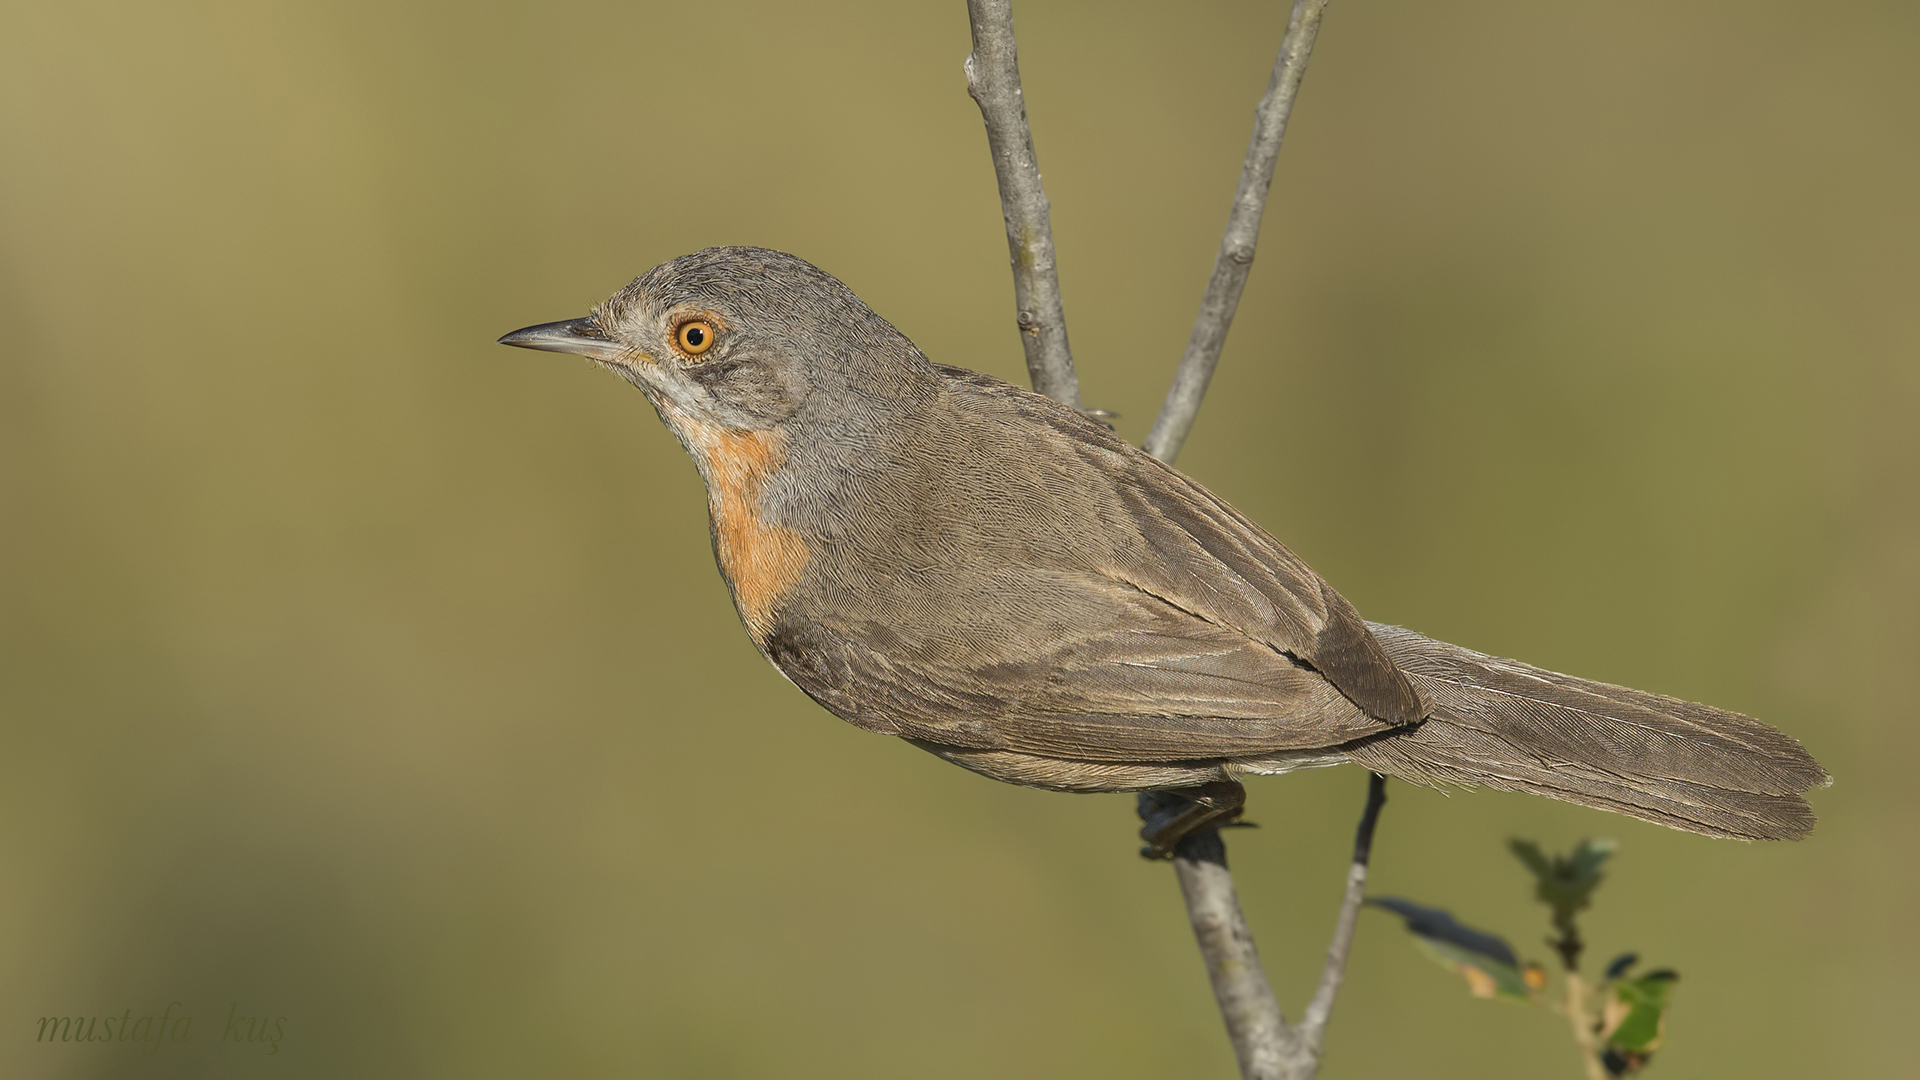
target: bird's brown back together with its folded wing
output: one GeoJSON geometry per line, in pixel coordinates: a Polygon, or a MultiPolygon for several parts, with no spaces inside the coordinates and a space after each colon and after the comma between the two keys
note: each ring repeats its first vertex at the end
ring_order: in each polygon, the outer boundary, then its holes
{"type": "Polygon", "coordinates": [[[760,642],[829,711],[1123,763],[1317,749],[1425,717],[1346,600],[1260,527],[1073,409],[945,373],[956,407],[927,438],[952,452],[914,455],[947,463],[916,486],[937,513],[818,548],[826,600],[760,642]]]}

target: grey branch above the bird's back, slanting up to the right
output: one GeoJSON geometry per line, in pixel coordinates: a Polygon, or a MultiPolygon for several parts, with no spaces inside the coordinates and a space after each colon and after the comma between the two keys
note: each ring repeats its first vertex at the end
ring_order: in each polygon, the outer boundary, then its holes
{"type": "MultiPolygon", "coordinates": [[[[1146,436],[1146,452],[1162,461],[1171,463],[1187,442],[1187,432],[1200,413],[1200,400],[1213,380],[1213,367],[1219,365],[1219,350],[1227,344],[1233,313],[1240,307],[1240,290],[1246,288],[1254,246],[1260,240],[1260,215],[1267,208],[1267,188],[1273,186],[1273,161],[1281,154],[1286,117],[1294,111],[1300,79],[1308,73],[1308,56],[1313,54],[1313,38],[1319,37],[1325,10],[1327,0],[1294,0],[1281,56],[1273,61],[1273,79],[1254,110],[1254,138],[1246,146],[1246,165],[1240,167],[1240,186],[1233,192],[1233,211],[1227,213],[1227,233],[1213,259],[1213,277],[1200,300],[1200,317],[1194,319],[1181,367],[1173,373],[1173,386],[1167,388],[1167,402],[1146,436]]],[[[1004,181],[1000,190],[1006,190],[1004,181]]]]}

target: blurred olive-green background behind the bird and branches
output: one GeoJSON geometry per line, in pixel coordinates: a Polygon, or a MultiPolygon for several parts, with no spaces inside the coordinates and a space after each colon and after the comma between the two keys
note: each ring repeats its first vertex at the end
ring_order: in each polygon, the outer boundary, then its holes
{"type": "MultiPolygon", "coordinates": [[[[1140,438],[1284,4],[1018,6],[1091,405],[1140,438]]],[[[0,1076],[1231,1076],[1125,796],[826,715],[639,394],[493,344],[708,244],[1023,379],[964,6],[0,13],[0,1076]],[[35,1043],[157,1013],[194,1043],[35,1043]],[[288,1019],[278,1053],[223,1020],[288,1019]]],[[[1183,467],[1373,619],[1764,717],[1805,844],[1396,786],[1377,892],[1546,959],[1622,853],[1653,1076],[1864,1076],[1920,1007],[1920,8],[1329,10],[1183,467]]],[[[1233,859],[1298,1015],[1363,780],[1233,859]]],[[[1325,1076],[1576,1076],[1367,915],[1325,1076]]]]}

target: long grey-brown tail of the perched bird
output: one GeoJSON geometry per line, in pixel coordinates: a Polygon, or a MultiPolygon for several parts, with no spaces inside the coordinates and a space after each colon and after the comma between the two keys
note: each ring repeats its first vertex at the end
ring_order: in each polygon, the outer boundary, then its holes
{"type": "Polygon", "coordinates": [[[1346,749],[1417,784],[1530,792],[1705,836],[1799,840],[1826,769],[1740,713],[1588,682],[1373,623],[1428,721],[1346,749]]]}

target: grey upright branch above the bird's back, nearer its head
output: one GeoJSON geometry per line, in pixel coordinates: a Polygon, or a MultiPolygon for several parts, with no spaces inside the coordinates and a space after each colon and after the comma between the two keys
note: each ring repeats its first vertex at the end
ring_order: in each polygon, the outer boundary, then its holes
{"type": "Polygon", "coordinates": [[[1041,163],[1033,156],[1027,102],[1020,90],[1020,56],[1014,48],[1010,0],[968,0],[973,52],[966,58],[966,92],[987,121],[993,175],[1000,183],[1006,217],[1006,250],[1014,265],[1014,306],[1020,344],[1027,350],[1033,388],[1056,402],[1081,407],[1068,319],[1060,306],[1060,271],[1054,267],[1054,229],[1041,163]]]}

